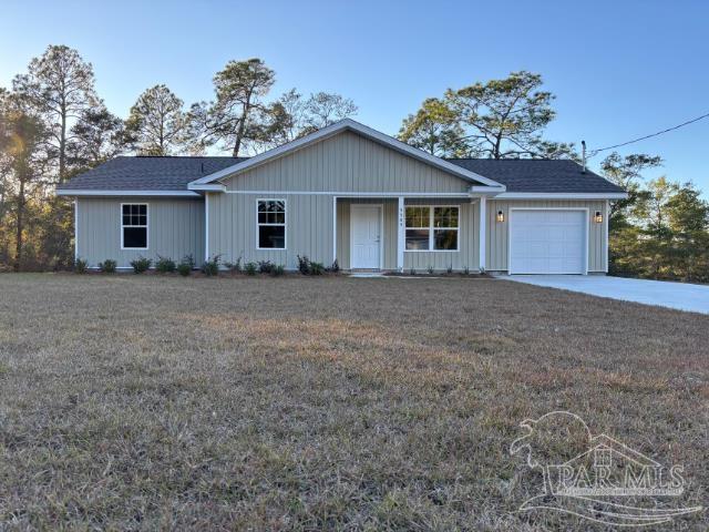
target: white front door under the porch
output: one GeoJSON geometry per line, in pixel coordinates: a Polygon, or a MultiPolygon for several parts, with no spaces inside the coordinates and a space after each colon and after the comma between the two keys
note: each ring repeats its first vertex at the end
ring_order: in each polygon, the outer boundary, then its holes
{"type": "Polygon", "coordinates": [[[381,267],[381,206],[352,205],[351,268],[378,269],[381,267]]]}

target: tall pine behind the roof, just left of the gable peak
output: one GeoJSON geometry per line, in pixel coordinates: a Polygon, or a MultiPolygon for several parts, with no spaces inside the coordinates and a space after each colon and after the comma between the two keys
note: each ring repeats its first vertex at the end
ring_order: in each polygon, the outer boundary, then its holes
{"type": "Polygon", "coordinates": [[[265,140],[268,105],[276,75],[260,59],[229,61],[214,76],[215,100],[192,106],[191,117],[205,145],[219,144],[238,156],[265,140]]]}

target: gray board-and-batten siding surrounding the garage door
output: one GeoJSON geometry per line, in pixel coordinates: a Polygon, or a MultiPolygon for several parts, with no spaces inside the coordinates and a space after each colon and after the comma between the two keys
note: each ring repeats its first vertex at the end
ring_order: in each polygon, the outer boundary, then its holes
{"type": "Polygon", "coordinates": [[[588,273],[606,272],[608,264],[606,247],[607,202],[559,201],[559,200],[492,200],[487,202],[486,259],[487,270],[506,272],[510,250],[510,208],[587,208],[588,209],[588,273]],[[497,211],[504,213],[505,221],[497,222],[497,211]],[[604,222],[597,224],[593,216],[596,211],[604,215],[604,222]]]}

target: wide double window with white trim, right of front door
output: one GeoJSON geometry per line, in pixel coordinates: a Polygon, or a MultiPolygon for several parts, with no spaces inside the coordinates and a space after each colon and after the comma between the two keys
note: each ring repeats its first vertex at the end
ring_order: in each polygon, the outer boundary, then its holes
{"type": "Polygon", "coordinates": [[[408,252],[456,252],[460,207],[410,205],[405,209],[408,252]]]}

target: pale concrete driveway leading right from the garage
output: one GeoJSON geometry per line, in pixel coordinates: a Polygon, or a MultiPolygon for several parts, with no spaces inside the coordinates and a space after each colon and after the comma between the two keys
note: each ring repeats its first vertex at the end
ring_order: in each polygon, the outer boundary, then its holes
{"type": "Polygon", "coordinates": [[[501,279],[580,291],[592,296],[709,314],[709,286],[603,275],[510,275],[501,279]]]}

